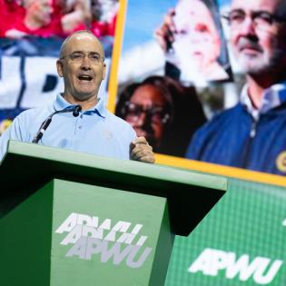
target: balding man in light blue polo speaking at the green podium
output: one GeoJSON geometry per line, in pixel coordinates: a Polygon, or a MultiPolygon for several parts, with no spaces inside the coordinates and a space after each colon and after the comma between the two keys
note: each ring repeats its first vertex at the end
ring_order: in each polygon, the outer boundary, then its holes
{"type": "Polygon", "coordinates": [[[64,94],[54,103],[20,113],[0,137],[0,159],[9,139],[78,152],[153,163],[152,147],[98,98],[105,77],[104,48],[89,31],[64,40],[56,62],[64,94]]]}

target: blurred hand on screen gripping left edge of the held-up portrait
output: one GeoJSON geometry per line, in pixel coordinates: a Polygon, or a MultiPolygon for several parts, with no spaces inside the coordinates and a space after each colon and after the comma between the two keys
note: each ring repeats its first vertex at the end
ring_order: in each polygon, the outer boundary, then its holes
{"type": "Polygon", "coordinates": [[[173,16],[175,15],[174,9],[170,9],[168,14],[163,19],[163,25],[161,25],[155,31],[155,38],[166,53],[172,47],[174,41],[173,35],[176,33],[176,28],[173,23],[173,16]]]}

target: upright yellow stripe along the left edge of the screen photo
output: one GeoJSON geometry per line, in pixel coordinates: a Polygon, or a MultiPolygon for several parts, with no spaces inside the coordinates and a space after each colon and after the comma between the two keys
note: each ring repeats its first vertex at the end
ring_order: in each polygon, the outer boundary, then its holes
{"type": "Polygon", "coordinates": [[[127,7],[127,0],[119,1],[119,10],[116,18],[116,27],[113,44],[113,54],[110,70],[110,78],[108,83],[108,102],[107,109],[114,113],[117,94],[117,74],[119,66],[119,58],[123,44],[123,28],[125,20],[125,12],[127,7]]]}

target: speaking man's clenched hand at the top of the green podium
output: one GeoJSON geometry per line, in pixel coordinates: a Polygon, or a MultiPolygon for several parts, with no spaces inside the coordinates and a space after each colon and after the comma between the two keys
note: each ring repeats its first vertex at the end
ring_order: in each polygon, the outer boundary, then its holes
{"type": "Polygon", "coordinates": [[[137,137],[130,143],[130,159],[144,163],[154,163],[155,157],[152,146],[145,137],[137,137]]]}

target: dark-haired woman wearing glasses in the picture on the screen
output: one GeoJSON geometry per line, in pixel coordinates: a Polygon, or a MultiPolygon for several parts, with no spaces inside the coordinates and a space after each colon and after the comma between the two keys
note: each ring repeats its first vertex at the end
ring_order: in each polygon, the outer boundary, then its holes
{"type": "Polygon", "coordinates": [[[162,76],[125,87],[115,114],[144,136],[154,152],[175,156],[184,156],[192,133],[205,122],[195,90],[162,76]]]}

